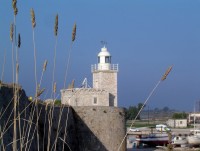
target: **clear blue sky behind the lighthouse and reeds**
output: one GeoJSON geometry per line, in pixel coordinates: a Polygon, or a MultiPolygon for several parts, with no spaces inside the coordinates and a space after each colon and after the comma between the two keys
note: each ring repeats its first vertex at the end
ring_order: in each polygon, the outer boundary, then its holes
{"type": "MultiPolygon", "coordinates": [[[[165,70],[173,65],[148,101],[150,108],[192,111],[200,100],[200,1],[198,0],[63,0],[18,1],[17,33],[21,34],[19,82],[28,96],[33,95],[34,58],[30,9],[35,10],[37,74],[41,75],[45,59],[49,61],[42,87],[51,93],[54,21],[59,15],[55,80],[63,88],[65,62],[74,22],[76,41],[72,48],[68,81],[81,85],[85,77],[92,86],[91,64],[107,41],[112,63],[119,64],[118,101],[127,107],[144,102],[165,70]]],[[[0,1],[0,72],[6,50],[3,80],[12,82],[10,24],[13,22],[12,1],[0,1]]],[[[43,96],[45,97],[45,96],[43,96]]]]}

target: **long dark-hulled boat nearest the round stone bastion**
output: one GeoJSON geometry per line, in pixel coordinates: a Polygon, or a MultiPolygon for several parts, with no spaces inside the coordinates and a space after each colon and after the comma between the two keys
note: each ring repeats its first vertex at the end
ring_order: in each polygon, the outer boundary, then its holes
{"type": "Polygon", "coordinates": [[[164,146],[169,143],[169,137],[167,133],[151,133],[147,136],[139,135],[135,140],[139,144],[146,144],[151,147],[164,146]]]}

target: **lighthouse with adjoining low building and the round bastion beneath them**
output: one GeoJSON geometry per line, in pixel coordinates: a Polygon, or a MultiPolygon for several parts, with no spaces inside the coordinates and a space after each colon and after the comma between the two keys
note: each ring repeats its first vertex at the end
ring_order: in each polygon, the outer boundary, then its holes
{"type": "Polygon", "coordinates": [[[117,107],[118,71],[118,64],[111,64],[111,55],[104,46],[98,54],[98,64],[91,66],[93,87],[86,83],[81,88],[61,90],[61,103],[71,106],[82,123],[77,124],[78,133],[85,139],[79,142],[87,144],[84,146],[89,150],[126,150],[126,141],[122,143],[126,134],[125,111],[117,107]]]}

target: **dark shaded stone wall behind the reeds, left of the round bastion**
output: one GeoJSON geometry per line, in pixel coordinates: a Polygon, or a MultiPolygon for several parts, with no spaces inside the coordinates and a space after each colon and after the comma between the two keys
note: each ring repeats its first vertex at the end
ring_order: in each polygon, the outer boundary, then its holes
{"type": "MultiPolygon", "coordinates": [[[[13,86],[2,85],[0,88],[0,150],[13,150],[13,86]],[[4,112],[5,111],[5,112],[4,112]]],[[[17,148],[18,150],[37,151],[37,114],[35,103],[28,100],[25,91],[19,90],[20,101],[17,104],[17,148]],[[20,113],[20,118],[18,116],[20,113]],[[31,121],[33,116],[33,121],[31,121]],[[19,127],[20,126],[20,127],[19,127]],[[20,131],[23,145],[20,146],[20,131]]],[[[50,150],[56,151],[79,151],[78,142],[76,140],[76,131],[73,119],[72,109],[65,106],[63,110],[60,107],[52,108],[51,105],[38,103],[38,134],[39,134],[39,150],[47,150],[48,139],[50,150]],[[61,120],[59,123],[59,115],[61,120]],[[46,117],[46,118],[45,118],[46,117]],[[49,136],[49,117],[52,117],[52,125],[50,126],[49,136]],[[67,124],[67,126],[66,126],[67,124]],[[65,135],[66,129],[66,135],[65,135]],[[64,143],[64,135],[66,140],[64,143]],[[55,140],[57,143],[55,145],[55,140]],[[56,147],[55,147],[56,146],[56,147]]]]}

